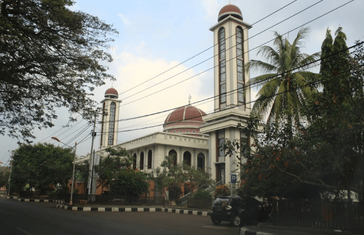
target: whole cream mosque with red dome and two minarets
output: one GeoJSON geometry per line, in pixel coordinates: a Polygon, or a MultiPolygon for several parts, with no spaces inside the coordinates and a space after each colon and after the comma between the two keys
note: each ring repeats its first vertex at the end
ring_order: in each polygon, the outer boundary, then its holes
{"type": "MultiPolygon", "coordinates": [[[[251,111],[250,90],[244,89],[249,72],[243,70],[243,65],[249,61],[248,30],[251,25],[243,21],[240,9],[231,4],[220,10],[217,21],[210,28],[214,35],[214,55],[218,55],[214,57],[214,96],[218,97],[214,101],[214,113],[206,115],[189,103],[167,116],[162,131],[117,144],[121,100],[112,87],[101,101],[102,110],[108,115],[101,117],[95,164],[100,157],[107,156],[106,148],[121,146],[129,156],[135,157],[133,167],[142,171],[159,167],[165,156],[173,154],[178,163],[186,161],[202,168],[220,184],[228,183],[230,175],[239,172],[235,163],[237,157],[225,157],[219,145],[225,139],[249,138],[240,132],[237,124],[247,120],[251,111]]],[[[98,193],[96,187],[93,188],[91,193],[98,193]]]]}

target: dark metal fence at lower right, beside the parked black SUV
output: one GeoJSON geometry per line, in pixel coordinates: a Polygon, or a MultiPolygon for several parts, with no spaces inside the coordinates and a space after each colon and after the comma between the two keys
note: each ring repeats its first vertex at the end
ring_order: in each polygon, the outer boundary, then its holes
{"type": "Polygon", "coordinates": [[[364,203],[280,199],[268,207],[277,224],[364,231],[364,203]]]}

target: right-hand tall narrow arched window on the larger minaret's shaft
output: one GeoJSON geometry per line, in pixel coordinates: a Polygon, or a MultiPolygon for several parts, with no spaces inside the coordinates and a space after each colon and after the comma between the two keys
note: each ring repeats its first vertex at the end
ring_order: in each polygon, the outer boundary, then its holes
{"type": "Polygon", "coordinates": [[[237,76],[238,76],[238,102],[244,102],[244,48],[243,48],[243,29],[242,27],[237,27],[236,32],[237,39],[237,76]]]}

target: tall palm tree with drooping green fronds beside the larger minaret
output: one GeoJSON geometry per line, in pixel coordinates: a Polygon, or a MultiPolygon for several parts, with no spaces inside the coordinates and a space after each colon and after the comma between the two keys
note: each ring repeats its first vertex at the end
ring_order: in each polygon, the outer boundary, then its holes
{"type": "Polygon", "coordinates": [[[265,73],[247,82],[247,85],[256,84],[260,88],[252,112],[261,120],[267,119],[267,123],[274,123],[276,127],[282,121],[287,121],[291,127],[293,124],[298,125],[303,100],[316,91],[313,86],[306,84],[319,75],[303,71],[313,67],[314,64],[309,63],[320,58],[321,53],[308,55],[301,52],[304,47],[302,41],[308,32],[308,28],[301,28],[292,44],[275,32],[274,48],[262,46],[257,52],[268,63],[251,60],[245,65],[245,70],[265,73]]]}

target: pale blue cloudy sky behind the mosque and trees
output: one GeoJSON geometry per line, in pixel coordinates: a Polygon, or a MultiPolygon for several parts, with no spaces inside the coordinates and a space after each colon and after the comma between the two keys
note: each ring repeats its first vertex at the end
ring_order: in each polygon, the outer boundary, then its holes
{"type": "MultiPolygon", "coordinates": [[[[343,27],[348,47],[356,40],[364,40],[362,0],[75,0],[72,10],[97,16],[113,24],[119,32],[111,35],[115,41],[110,43],[108,51],[114,60],[105,64],[116,81],[106,81],[105,85],[96,87],[93,99],[100,102],[106,90],[114,87],[122,100],[119,119],[128,119],[187,105],[189,96],[191,103],[213,97],[213,32],[209,28],[217,23],[220,9],[229,2],[240,8],[245,22],[252,24],[248,52],[251,60],[263,60],[256,55],[257,48],[273,46],[275,31],[292,42],[303,24],[310,28],[303,49],[307,54],[321,50],[326,28],[333,35],[339,26],[343,27]]],[[[251,77],[256,75],[259,74],[250,74],[251,77]]],[[[254,100],[256,91],[252,94],[254,100]]],[[[214,110],[212,99],[207,101],[194,106],[211,113],[214,110]]],[[[171,111],[120,122],[118,143],[162,131],[171,111]],[[155,125],[159,126],[147,128],[155,125]],[[146,129],[135,130],[140,128],[146,129]]],[[[53,128],[34,130],[33,142],[58,145],[59,142],[50,138],[55,136],[70,146],[77,141],[77,156],[90,153],[92,126],[88,127],[87,122],[79,118],[70,127],[64,127],[68,123],[67,110],[59,109],[57,114],[53,128]]],[[[100,131],[99,123],[95,131],[100,131]]],[[[18,148],[18,140],[5,135],[0,136],[0,142],[0,162],[9,165],[11,151],[18,148]]],[[[98,145],[97,136],[93,149],[98,150],[98,145]]]]}

